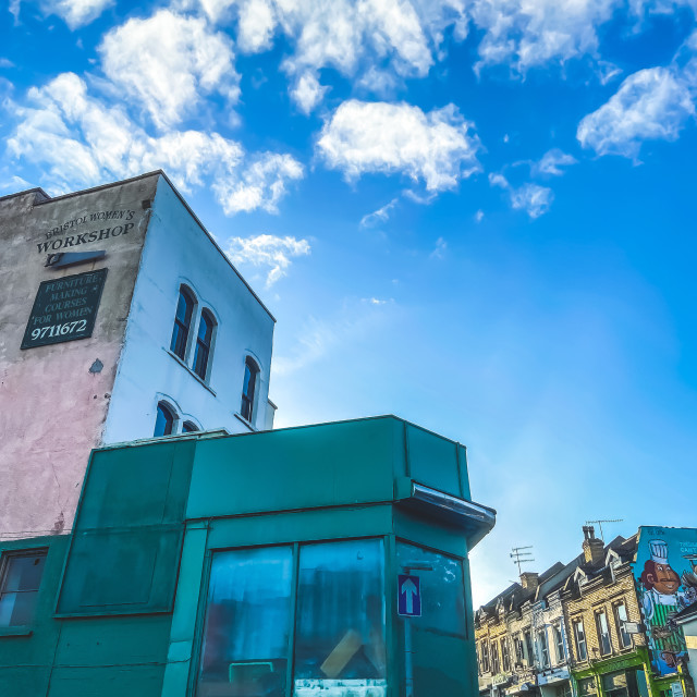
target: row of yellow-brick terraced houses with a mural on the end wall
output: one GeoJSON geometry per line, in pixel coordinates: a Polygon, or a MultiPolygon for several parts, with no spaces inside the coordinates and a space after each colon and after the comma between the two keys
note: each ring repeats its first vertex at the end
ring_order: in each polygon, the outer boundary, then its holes
{"type": "Polygon", "coordinates": [[[643,527],[604,545],[585,526],[582,548],[476,613],[480,694],[694,697],[674,617],[697,600],[697,530],[643,527]]]}

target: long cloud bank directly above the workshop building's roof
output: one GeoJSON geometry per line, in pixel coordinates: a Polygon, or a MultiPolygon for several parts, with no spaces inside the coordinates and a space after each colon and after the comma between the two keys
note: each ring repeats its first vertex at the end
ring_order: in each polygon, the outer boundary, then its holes
{"type": "Polygon", "coordinates": [[[239,143],[218,133],[171,131],[152,137],[120,107],[89,96],[73,73],[30,89],[28,103],[15,107],[19,124],[8,152],[39,166],[45,185],[56,193],[161,168],[185,192],[210,185],[227,215],[274,211],[284,182],[303,173],[288,155],[247,157],[239,143]],[[245,158],[250,163],[241,172],[245,158]]]}

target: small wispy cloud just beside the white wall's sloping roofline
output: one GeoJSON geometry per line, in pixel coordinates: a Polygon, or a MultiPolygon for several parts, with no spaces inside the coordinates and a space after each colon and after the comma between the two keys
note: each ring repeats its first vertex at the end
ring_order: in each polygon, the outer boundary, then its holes
{"type": "Polygon", "coordinates": [[[288,273],[295,257],[310,253],[307,240],[262,234],[255,237],[232,237],[225,250],[233,264],[268,267],[266,285],[270,288],[288,273]]]}

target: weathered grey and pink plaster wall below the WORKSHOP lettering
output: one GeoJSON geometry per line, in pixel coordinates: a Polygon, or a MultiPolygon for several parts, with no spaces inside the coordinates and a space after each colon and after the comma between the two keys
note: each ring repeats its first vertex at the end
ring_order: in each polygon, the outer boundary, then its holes
{"type": "Polygon", "coordinates": [[[109,408],[149,218],[143,201],[155,197],[158,179],[156,174],[48,200],[40,192],[0,199],[4,537],[71,525],[89,452],[101,440],[109,408]],[[113,220],[108,211],[125,212],[113,220]],[[125,229],[126,221],[133,225],[125,229]],[[122,230],[112,236],[115,225],[122,230]],[[97,232],[95,240],[84,235],[90,232],[97,232]],[[45,267],[49,253],[96,249],[106,250],[106,257],[60,270],[45,267]],[[102,268],[108,274],[91,338],[20,348],[41,281],[102,268]],[[102,368],[90,372],[97,359],[102,368]]]}

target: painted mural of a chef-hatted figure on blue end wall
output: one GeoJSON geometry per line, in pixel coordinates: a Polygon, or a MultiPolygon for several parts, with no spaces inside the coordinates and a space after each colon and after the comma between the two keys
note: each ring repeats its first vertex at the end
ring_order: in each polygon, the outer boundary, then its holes
{"type": "Polygon", "coordinates": [[[640,527],[634,575],[652,668],[675,673],[686,647],[674,616],[697,601],[697,529],[640,527]]]}

